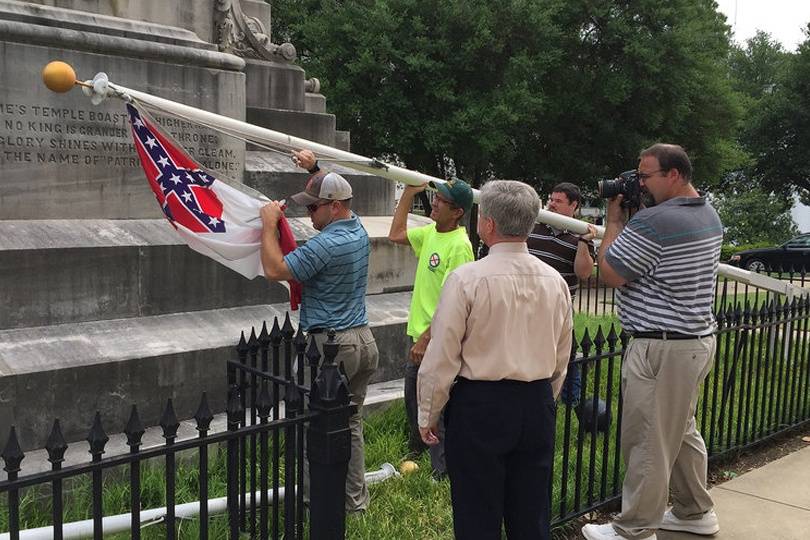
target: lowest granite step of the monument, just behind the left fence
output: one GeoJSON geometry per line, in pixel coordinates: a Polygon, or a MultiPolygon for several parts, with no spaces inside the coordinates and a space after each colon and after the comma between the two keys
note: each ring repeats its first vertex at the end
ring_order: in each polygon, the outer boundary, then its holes
{"type": "MultiPolygon", "coordinates": [[[[380,350],[372,382],[402,376],[410,296],[367,297],[380,350]]],[[[123,426],[133,403],[146,425],[156,424],[168,398],[179,418],[190,418],[203,391],[221,412],[226,362],[235,358],[240,333],[283,320],[288,308],[253,305],[1,330],[0,438],[16,425],[24,448],[42,447],[58,417],[65,438],[79,440],[95,411],[123,426]]],[[[291,319],[297,326],[297,312],[291,319]]]]}

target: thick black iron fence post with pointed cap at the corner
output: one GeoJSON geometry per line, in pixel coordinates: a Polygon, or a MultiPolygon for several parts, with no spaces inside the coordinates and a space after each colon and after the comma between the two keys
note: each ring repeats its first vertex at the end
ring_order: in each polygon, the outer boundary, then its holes
{"type": "Polygon", "coordinates": [[[330,331],[309,405],[319,413],[307,428],[311,540],[342,540],[346,535],[346,472],[351,456],[352,408],[348,406],[348,381],[335,365],[337,351],[334,332],[330,331]]]}

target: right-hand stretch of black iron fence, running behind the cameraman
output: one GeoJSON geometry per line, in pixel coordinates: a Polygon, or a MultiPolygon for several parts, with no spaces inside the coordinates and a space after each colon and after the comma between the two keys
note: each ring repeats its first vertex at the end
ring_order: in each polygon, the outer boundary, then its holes
{"type": "MultiPolygon", "coordinates": [[[[770,275],[810,285],[804,272],[770,275]]],[[[575,308],[615,317],[612,290],[591,286],[588,296],[583,284],[575,308]]],[[[696,415],[711,460],[810,421],[810,288],[787,298],[721,277],[716,292],[717,349],[696,415]]],[[[582,384],[578,399],[558,409],[555,525],[621,498],[621,361],[629,339],[618,319],[576,336],[582,384]]]]}

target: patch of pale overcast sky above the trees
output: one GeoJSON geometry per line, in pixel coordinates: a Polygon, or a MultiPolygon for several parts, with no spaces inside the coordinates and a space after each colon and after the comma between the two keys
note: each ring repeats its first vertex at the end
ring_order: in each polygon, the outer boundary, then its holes
{"type": "Polygon", "coordinates": [[[803,29],[810,22],[810,0],[715,0],[734,30],[734,39],[744,43],[757,30],[764,30],[788,51],[805,40],[803,29]]]}

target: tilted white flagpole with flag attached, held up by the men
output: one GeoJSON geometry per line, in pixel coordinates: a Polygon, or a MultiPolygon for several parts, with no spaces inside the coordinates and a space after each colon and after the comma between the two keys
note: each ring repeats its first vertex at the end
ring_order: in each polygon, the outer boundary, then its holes
{"type": "MultiPolygon", "coordinates": [[[[96,76],[96,78],[98,77],[99,75],[96,76]]],[[[402,182],[410,185],[421,185],[425,182],[445,182],[445,180],[435,176],[411,171],[405,169],[404,167],[398,167],[388,163],[382,163],[359,154],[338,150],[337,148],[332,148],[331,146],[319,144],[307,139],[293,137],[280,131],[273,131],[271,129],[255,126],[253,124],[248,124],[247,122],[242,122],[241,120],[234,120],[233,118],[227,116],[211,113],[195,107],[183,105],[182,103],[177,103],[176,101],[170,101],[151,94],[132,90],[131,88],[109,83],[106,82],[106,76],[104,77],[103,84],[93,84],[93,81],[88,81],[88,84],[95,88],[92,91],[94,92],[92,95],[96,96],[96,99],[107,96],[115,96],[119,98],[126,98],[126,96],[129,96],[136,101],[150,105],[158,110],[168,111],[172,114],[176,114],[203,125],[216,126],[244,139],[264,142],[270,145],[284,146],[287,148],[308,148],[316,154],[330,156],[331,158],[334,158],[336,162],[346,167],[367,172],[382,178],[388,178],[389,180],[393,180],[395,182],[402,182]]],[[[473,198],[476,202],[478,202],[478,197],[479,191],[474,189],[473,198]]],[[[562,216],[548,210],[540,210],[537,215],[537,220],[542,223],[547,223],[553,227],[568,229],[578,234],[585,234],[588,232],[588,224],[586,222],[576,218],[562,216]]],[[[604,227],[597,227],[597,231],[598,237],[601,238],[602,235],[604,235],[605,229],[604,227]]],[[[788,298],[807,294],[807,290],[801,287],[796,287],[795,285],[791,285],[790,283],[786,283],[782,280],[757,274],[755,272],[749,272],[747,270],[727,264],[720,264],[718,271],[721,275],[728,278],[755,287],[767,289],[778,294],[784,294],[788,296],[788,298]]]]}

